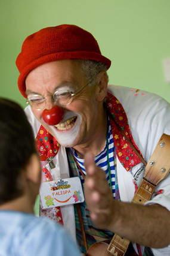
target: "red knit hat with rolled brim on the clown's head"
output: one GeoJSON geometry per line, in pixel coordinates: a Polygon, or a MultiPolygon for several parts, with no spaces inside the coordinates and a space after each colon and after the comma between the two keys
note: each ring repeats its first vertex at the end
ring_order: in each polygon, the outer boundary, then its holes
{"type": "Polygon", "coordinates": [[[41,29],[24,40],[16,65],[20,76],[18,88],[26,97],[25,79],[34,68],[60,59],[92,59],[106,64],[111,61],[101,55],[97,41],[89,32],[75,25],[59,25],[41,29]]]}

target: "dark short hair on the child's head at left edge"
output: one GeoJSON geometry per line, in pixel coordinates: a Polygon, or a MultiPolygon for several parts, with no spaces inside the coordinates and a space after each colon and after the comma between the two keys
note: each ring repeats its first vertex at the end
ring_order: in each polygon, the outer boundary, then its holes
{"type": "Polygon", "coordinates": [[[0,98],[0,204],[23,194],[20,174],[32,153],[35,139],[23,109],[0,98]]]}

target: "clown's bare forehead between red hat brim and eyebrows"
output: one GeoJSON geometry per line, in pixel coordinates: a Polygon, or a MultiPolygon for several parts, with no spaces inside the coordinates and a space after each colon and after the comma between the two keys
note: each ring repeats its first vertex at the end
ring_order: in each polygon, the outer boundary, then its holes
{"type": "Polygon", "coordinates": [[[57,88],[74,88],[86,82],[78,60],[66,59],[40,65],[26,77],[26,94],[40,92],[45,89],[54,92],[57,88]]]}

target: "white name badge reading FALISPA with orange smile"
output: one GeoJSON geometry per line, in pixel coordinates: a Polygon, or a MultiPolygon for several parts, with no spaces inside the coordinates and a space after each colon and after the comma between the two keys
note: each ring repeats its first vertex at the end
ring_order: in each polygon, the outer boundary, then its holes
{"type": "Polygon", "coordinates": [[[79,177],[42,182],[39,195],[42,209],[84,202],[79,177]]]}

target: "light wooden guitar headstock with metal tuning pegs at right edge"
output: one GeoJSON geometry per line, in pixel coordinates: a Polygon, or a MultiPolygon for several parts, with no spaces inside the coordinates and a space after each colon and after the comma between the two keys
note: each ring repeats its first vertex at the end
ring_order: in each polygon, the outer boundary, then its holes
{"type": "Polygon", "coordinates": [[[170,135],[162,134],[146,165],[144,178],[157,185],[170,170],[170,135]]]}

